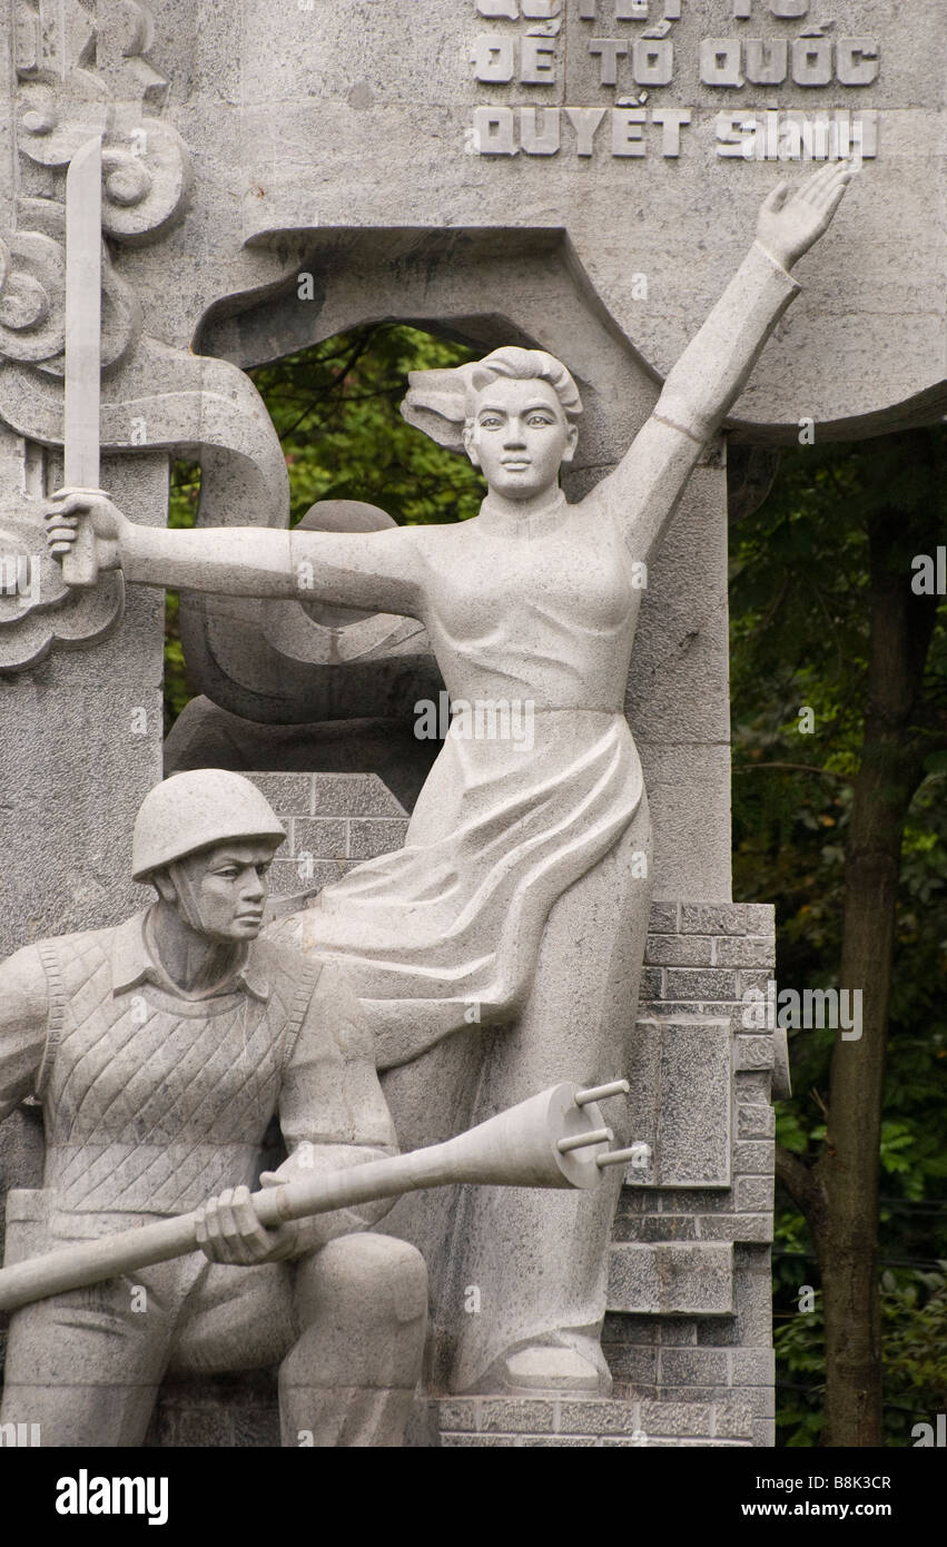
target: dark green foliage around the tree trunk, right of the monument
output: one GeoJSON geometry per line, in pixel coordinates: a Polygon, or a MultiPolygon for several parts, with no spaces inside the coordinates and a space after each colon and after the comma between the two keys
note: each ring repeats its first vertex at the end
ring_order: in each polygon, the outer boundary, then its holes
{"type": "MultiPolygon", "coordinates": [[[[947,436],[930,432],[933,455],[947,436]]],[[[768,500],[732,532],[733,896],[777,903],[781,987],[837,982],[851,780],[862,755],[868,670],[868,523],[904,507],[905,585],[918,528],[944,540],[947,507],[924,506],[913,442],[896,436],[783,455],[768,500]],[[908,452],[908,446],[911,450],[908,452]],[[803,735],[800,709],[815,712],[803,735]]],[[[947,489],[947,480],[942,481],[947,489]]],[[[945,497],[947,498],[947,497],[945,497]]],[[[888,1443],[945,1411],[944,1292],[930,1270],[947,1256],[947,619],[941,606],[918,735],[932,738],[904,835],[894,985],[879,1154],[879,1255],[888,1443]],[[939,1344],[938,1344],[939,1335],[939,1344]],[[939,1403],[939,1405],[938,1405],[939,1403]],[[907,1409],[907,1411],[904,1411],[907,1409]]],[[[826,1134],[831,1030],[791,1033],[795,1095],[777,1139],[812,1163],[826,1134]]],[[[780,1443],[817,1445],[825,1391],[822,1309],[806,1224],[781,1194],[774,1244],[780,1443]]]]}

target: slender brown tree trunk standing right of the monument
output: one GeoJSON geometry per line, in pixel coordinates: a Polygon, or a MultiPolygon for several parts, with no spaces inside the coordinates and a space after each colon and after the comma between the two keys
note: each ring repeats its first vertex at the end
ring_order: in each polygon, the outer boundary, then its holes
{"type": "MultiPolygon", "coordinates": [[[[908,439],[915,442],[907,447],[908,459],[918,470],[930,467],[925,432],[908,439]]],[[[904,455],[904,447],[899,450],[904,455]]],[[[840,1030],[836,1033],[828,1132],[815,1166],[825,1199],[814,1233],[825,1309],[822,1443],[826,1446],[884,1445],[877,1287],[880,1123],[901,845],[924,777],[915,710],[936,611],[933,599],[911,591],[910,557],[911,535],[915,541],[935,537],[935,512],[936,490],[930,489],[927,509],[888,509],[870,520],[865,733],[846,845],[839,975],[850,1002],[860,992],[862,1036],[843,1040],[840,1030]]]]}

